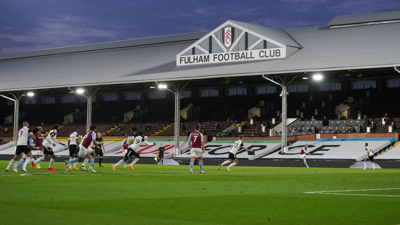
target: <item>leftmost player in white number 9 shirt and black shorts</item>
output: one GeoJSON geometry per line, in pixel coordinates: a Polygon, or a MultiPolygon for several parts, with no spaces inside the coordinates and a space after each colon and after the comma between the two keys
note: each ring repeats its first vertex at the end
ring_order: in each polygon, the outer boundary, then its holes
{"type": "MultiPolygon", "coordinates": [[[[33,135],[33,132],[31,129],[29,129],[29,123],[28,121],[24,121],[22,123],[24,127],[18,131],[18,141],[17,141],[17,148],[15,150],[15,155],[14,158],[10,160],[10,163],[8,164],[7,168],[4,170],[4,172],[7,172],[10,170],[10,167],[14,164],[14,162],[18,159],[18,157],[21,155],[21,153],[24,153],[26,155],[26,158],[30,160],[25,160],[24,165],[22,165],[21,171],[24,171],[25,173],[28,173],[26,171],[26,165],[28,165],[29,161],[33,161],[32,159],[32,153],[30,152],[30,148],[28,147],[28,139],[29,137],[32,137],[35,139],[35,136],[33,135]]],[[[16,129],[16,128],[14,128],[16,129]]]]}

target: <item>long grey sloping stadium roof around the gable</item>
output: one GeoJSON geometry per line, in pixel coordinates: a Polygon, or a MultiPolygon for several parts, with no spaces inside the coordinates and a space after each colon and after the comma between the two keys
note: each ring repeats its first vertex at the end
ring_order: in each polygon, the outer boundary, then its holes
{"type": "Polygon", "coordinates": [[[400,66],[400,22],[289,30],[227,22],[276,40],[290,53],[276,60],[177,67],[178,53],[211,34],[196,32],[5,54],[0,91],[400,66]]]}

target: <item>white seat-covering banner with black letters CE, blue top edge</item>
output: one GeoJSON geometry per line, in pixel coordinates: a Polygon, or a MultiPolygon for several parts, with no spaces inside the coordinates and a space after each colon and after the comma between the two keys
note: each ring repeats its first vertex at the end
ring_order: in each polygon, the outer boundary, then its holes
{"type": "Polygon", "coordinates": [[[368,143],[368,146],[374,150],[374,153],[377,153],[396,141],[395,138],[342,138],[336,140],[321,138],[317,140],[318,141],[297,141],[288,146],[289,150],[286,153],[276,152],[262,157],[262,159],[301,160],[300,151],[304,145],[308,144],[307,152],[311,153],[311,155],[307,154],[307,159],[361,161],[367,157],[365,143],[368,143]]]}

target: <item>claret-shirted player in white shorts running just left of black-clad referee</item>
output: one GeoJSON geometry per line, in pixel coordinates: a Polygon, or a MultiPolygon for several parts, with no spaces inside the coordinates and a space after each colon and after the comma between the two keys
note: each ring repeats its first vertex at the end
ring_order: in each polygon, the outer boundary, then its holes
{"type": "Polygon", "coordinates": [[[96,142],[96,126],[90,126],[90,131],[83,137],[82,142],[79,144],[78,158],[70,161],[65,161],[64,169],[68,171],[68,167],[75,162],[81,161],[84,157],[90,160],[89,170],[90,172],[97,172],[93,169],[94,160],[96,160],[96,153],[94,149],[98,148],[96,142]],[[90,146],[90,143],[94,144],[94,147],[90,146]]]}

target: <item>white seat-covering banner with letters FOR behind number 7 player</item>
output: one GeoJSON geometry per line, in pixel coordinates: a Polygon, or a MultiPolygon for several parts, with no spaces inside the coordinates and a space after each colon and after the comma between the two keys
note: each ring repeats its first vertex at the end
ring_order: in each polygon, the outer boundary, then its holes
{"type": "MultiPolygon", "coordinates": [[[[204,159],[228,159],[230,146],[235,141],[212,141],[206,144],[206,153],[203,153],[204,159]]],[[[245,151],[241,148],[237,153],[238,159],[258,159],[268,153],[280,148],[281,141],[243,141],[244,146],[253,149],[254,152],[245,151]]],[[[177,157],[190,158],[190,152],[178,155],[177,157]]]]}

